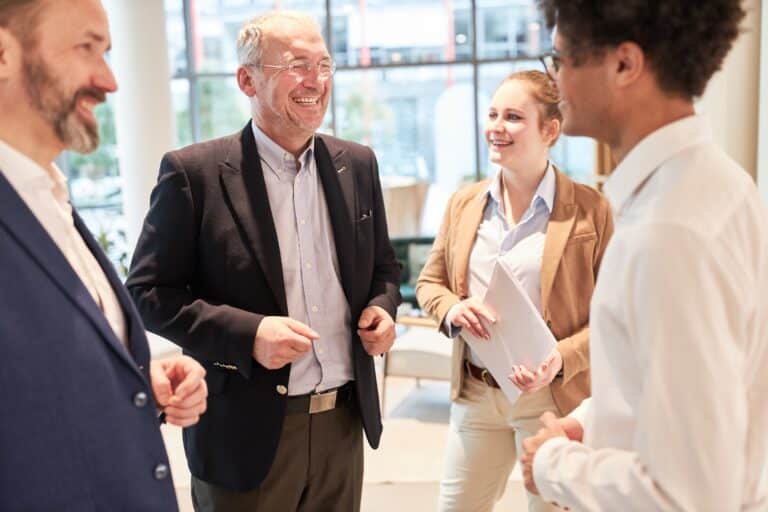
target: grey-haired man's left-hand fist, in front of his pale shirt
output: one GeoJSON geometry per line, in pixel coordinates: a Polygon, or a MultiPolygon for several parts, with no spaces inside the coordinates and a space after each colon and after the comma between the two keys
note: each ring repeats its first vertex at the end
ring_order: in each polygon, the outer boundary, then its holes
{"type": "Polygon", "coordinates": [[[253,358],[264,368],[277,370],[304,355],[320,335],[287,316],[265,316],[256,331],[253,358]]]}

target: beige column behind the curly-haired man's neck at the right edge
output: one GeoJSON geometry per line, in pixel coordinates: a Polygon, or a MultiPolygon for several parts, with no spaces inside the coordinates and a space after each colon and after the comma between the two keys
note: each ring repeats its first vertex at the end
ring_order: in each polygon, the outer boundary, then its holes
{"type": "Polygon", "coordinates": [[[742,33],[712,77],[697,111],[707,114],[715,139],[752,177],[757,175],[760,0],[744,0],[742,33]]]}

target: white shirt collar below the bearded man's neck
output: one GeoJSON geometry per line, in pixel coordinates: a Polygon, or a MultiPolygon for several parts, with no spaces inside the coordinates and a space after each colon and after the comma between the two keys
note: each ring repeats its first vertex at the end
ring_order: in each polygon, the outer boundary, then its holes
{"type": "Polygon", "coordinates": [[[51,162],[51,169],[41,167],[16,148],[0,140],[0,171],[17,192],[22,190],[50,190],[57,199],[69,201],[67,177],[51,162]]]}

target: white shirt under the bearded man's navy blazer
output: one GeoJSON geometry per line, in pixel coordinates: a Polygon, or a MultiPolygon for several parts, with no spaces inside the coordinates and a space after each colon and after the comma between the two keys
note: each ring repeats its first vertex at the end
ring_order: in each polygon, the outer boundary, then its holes
{"type": "Polygon", "coordinates": [[[0,141],[0,172],[61,250],[104,312],[115,335],[123,345],[127,345],[125,314],[117,295],[75,228],[66,177],[55,164],[51,164],[50,170],[44,169],[3,141],[0,141]]]}

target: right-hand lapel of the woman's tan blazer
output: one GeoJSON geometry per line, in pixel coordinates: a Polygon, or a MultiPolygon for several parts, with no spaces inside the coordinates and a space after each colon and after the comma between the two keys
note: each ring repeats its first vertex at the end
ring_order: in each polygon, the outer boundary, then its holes
{"type": "Polygon", "coordinates": [[[547,301],[552,292],[560,259],[576,220],[573,182],[555,169],[556,190],[552,213],[547,224],[544,254],[541,261],[541,304],[547,311],[547,301]]]}

